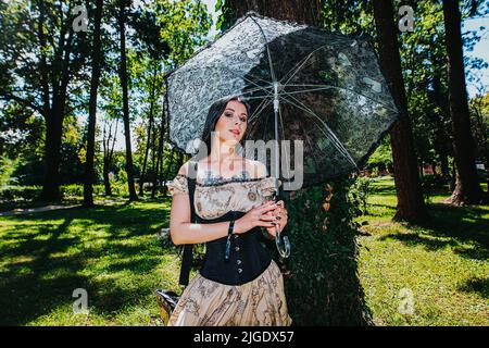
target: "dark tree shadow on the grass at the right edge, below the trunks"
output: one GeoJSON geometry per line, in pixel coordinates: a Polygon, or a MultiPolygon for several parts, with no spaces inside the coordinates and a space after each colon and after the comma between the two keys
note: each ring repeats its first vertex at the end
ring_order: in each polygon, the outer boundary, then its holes
{"type": "Polygon", "coordinates": [[[477,206],[434,203],[430,204],[429,213],[431,221],[406,225],[414,232],[388,234],[380,239],[397,239],[409,246],[424,245],[431,251],[450,246],[465,258],[489,258],[489,221],[481,217],[487,211],[477,206]]]}

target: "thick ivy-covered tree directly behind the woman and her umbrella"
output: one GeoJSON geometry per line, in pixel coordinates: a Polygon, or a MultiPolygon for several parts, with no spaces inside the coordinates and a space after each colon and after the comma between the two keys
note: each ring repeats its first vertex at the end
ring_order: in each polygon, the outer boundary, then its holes
{"type": "MultiPolygon", "coordinates": [[[[322,26],[323,23],[319,0],[228,0],[223,5],[223,13],[227,18],[221,18],[221,28],[233,24],[237,17],[251,10],[265,16],[309,25],[322,26]]],[[[331,184],[338,192],[335,196],[337,200],[331,204],[337,209],[337,221],[334,226],[329,226],[331,231],[323,235],[325,225],[323,229],[317,226],[325,221],[326,212],[322,206],[322,199],[327,195],[325,185],[296,191],[293,197],[299,197],[293,200],[292,195],[284,192],[291,216],[287,234],[294,248],[294,256],[280,260],[283,262],[279,263],[287,274],[285,287],[289,311],[298,325],[363,325],[369,322],[356,274],[356,231],[350,224],[350,209],[354,208],[346,199],[351,182],[343,177],[331,181],[331,184]],[[335,231],[341,231],[341,234],[335,231]],[[328,246],[337,246],[339,249],[326,250],[328,246]],[[329,257],[339,253],[342,253],[341,257],[329,257]],[[349,260],[348,265],[343,263],[344,260],[349,260]],[[304,297],[311,298],[306,304],[303,302],[304,297]]],[[[276,252],[275,246],[271,247],[271,252],[276,252]]]]}

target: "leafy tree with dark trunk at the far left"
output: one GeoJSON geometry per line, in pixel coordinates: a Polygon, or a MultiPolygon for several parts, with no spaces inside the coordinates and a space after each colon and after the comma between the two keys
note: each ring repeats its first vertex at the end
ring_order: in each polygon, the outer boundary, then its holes
{"type": "Polygon", "coordinates": [[[86,33],[73,29],[79,3],[2,2],[0,98],[42,115],[46,123],[41,199],[59,200],[62,129],[83,83],[86,33]]]}

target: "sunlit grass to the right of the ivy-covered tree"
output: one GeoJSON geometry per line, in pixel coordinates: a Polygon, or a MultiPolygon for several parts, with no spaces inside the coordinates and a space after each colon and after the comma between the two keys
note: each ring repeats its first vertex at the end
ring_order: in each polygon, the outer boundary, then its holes
{"type": "Polygon", "coordinates": [[[359,240],[359,273],[374,323],[489,325],[489,207],[448,207],[438,189],[432,221],[409,226],[391,222],[393,181],[374,189],[368,215],[358,220],[371,234],[359,240]]]}

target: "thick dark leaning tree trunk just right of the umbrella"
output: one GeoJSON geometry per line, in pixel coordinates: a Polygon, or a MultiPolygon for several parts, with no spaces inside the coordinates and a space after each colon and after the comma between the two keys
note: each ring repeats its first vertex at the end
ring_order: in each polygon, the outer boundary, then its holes
{"type": "Polygon", "coordinates": [[[374,16],[379,45],[380,66],[390,85],[400,112],[400,120],[390,133],[396,172],[394,183],[398,196],[397,212],[393,220],[419,223],[427,221],[429,215],[423,199],[422,185],[416,171],[416,154],[402,78],[392,1],[374,0],[374,16]]]}

